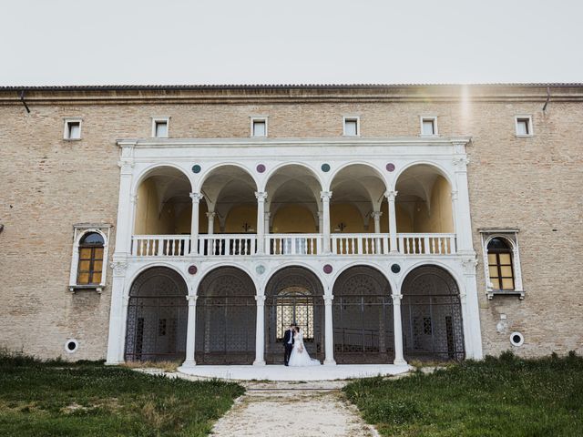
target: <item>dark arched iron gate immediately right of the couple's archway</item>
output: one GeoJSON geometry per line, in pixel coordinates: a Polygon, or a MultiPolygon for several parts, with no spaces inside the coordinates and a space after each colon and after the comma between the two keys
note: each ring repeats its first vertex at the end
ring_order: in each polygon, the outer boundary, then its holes
{"type": "Polygon", "coordinates": [[[339,364],[394,360],[391,287],[373,268],[344,271],[333,288],[334,360],[339,364]]]}

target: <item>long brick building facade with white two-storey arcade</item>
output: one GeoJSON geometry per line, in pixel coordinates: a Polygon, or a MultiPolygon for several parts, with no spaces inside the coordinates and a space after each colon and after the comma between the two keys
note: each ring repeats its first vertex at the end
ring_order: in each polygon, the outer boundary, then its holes
{"type": "MultiPolygon", "coordinates": [[[[317,331],[313,352],[329,364],[367,362],[351,358],[356,349],[362,356],[383,349],[388,361],[413,359],[424,334],[434,342],[429,355],[441,359],[507,349],[525,356],[583,352],[582,85],[21,91],[0,89],[0,347],[44,358],[142,359],[149,316],[130,320],[132,309],[143,306],[131,290],[140,274],[163,267],[179,273],[178,287],[190,299],[168,319],[156,316],[149,358],[166,348],[160,336],[168,340],[166,323],[174,320],[179,346],[163,353],[194,364],[195,355],[211,362],[207,355],[222,348],[224,359],[230,351],[211,333],[214,316],[200,312],[201,305],[212,311],[201,304],[201,288],[211,272],[230,268],[249,276],[260,298],[253,300],[257,311],[244,316],[252,313],[249,336],[240,341],[250,346],[233,352],[233,362],[270,362],[270,342],[279,334],[267,327],[284,317],[277,315],[281,303],[271,302],[270,279],[284,266],[322,282],[314,286],[322,286],[322,301],[297,308],[307,311],[306,329],[317,331]],[[148,180],[157,198],[140,185],[148,180]],[[192,207],[185,198],[196,198],[192,207]],[[104,283],[83,286],[79,244],[95,231],[106,240],[104,283]],[[505,263],[496,261],[494,246],[492,269],[486,266],[492,239],[506,244],[506,252],[498,249],[511,259],[512,283],[496,277],[505,263]],[[394,330],[339,321],[356,317],[334,291],[355,266],[380,272],[386,285],[379,290],[389,290],[386,300],[374,294],[376,303],[358,317],[384,308],[379,323],[394,330]],[[461,305],[457,316],[445,316],[441,334],[434,312],[417,320],[405,310],[416,307],[401,288],[423,266],[449,273],[453,305],[461,305]],[[271,304],[273,320],[263,310],[271,304]],[[210,321],[195,333],[201,317],[210,321]],[[462,340],[455,339],[452,317],[459,318],[462,340]],[[350,340],[349,331],[362,337],[350,340]],[[437,351],[442,340],[445,349],[437,351]],[[461,351],[454,345],[460,341],[461,351]],[[252,357],[241,358],[243,352],[252,357]]],[[[315,299],[311,293],[297,296],[315,299]]]]}

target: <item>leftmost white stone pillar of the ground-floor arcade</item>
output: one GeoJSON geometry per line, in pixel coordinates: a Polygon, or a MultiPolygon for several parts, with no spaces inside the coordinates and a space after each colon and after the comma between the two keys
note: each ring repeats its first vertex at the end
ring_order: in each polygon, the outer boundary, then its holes
{"type": "Polygon", "coordinates": [[[109,333],[107,336],[106,364],[124,362],[124,347],[128,300],[124,296],[126,285],[126,259],[119,259],[111,263],[113,280],[111,283],[111,309],[109,311],[109,333]]]}

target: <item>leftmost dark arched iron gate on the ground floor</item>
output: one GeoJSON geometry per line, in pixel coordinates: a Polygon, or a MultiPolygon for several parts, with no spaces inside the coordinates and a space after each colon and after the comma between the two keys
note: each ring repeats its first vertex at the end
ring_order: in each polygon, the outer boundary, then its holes
{"type": "Polygon", "coordinates": [[[187,286],[172,269],[141,273],[129,291],[126,361],[183,361],[188,319],[187,286]]]}

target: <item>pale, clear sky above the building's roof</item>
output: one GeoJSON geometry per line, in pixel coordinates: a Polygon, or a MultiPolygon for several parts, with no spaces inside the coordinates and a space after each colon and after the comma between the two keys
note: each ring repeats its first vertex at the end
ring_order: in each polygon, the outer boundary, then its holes
{"type": "Polygon", "coordinates": [[[0,6],[0,86],[583,82],[583,0],[0,6]]]}

